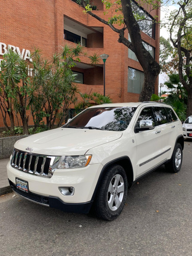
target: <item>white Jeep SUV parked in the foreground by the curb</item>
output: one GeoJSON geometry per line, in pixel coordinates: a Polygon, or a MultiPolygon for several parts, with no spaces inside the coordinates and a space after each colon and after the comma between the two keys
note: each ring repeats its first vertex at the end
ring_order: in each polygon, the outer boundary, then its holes
{"type": "Polygon", "coordinates": [[[92,207],[113,220],[138,179],[162,164],[179,172],[183,146],[182,123],[169,105],[96,105],[58,129],[17,141],[7,173],[26,199],[68,212],[92,207]]]}

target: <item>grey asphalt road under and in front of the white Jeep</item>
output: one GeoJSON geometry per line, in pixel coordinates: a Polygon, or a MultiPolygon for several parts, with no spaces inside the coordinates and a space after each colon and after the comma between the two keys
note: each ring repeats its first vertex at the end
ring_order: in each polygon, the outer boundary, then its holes
{"type": "Polygon", "coordinates": [[[178,174],[163,167],[129,191],[112,222],[0,197],[0,255],[192,255],[192,142],[178,174]],[[157,212],[158,211],[158,212],[157,212]]]}

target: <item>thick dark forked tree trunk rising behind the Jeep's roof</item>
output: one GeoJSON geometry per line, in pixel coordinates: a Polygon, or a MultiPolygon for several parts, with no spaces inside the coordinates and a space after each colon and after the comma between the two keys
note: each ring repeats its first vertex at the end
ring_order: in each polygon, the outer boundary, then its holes
{"type": "MultiPolygon", "coordinates": [[[[86,1],[81,1],[83,7],[86,7],[86,1]]],[[[125,26],[121,29],[117,29],[108,21],[97,16],[95,13],[88,11],[88,13],[94,18],[98,19],[99,22],[108,25],[113,31],[119,34],[118,41],[125,45],[127,48],[131,49],[143,71],[144,71],[144,82],[143,88],[140,95],[140,101],[148,101],[151,99],[152,94],[154,93],[155,81],[159,75],[161,68],[159,63],[152,57],[152,55],[144,48],[143,41],[141,38],[141,32],[139,24],[134,17],[131,0],[121,0],[122,12],[124,17],[125,26]],[[124,37],[124,31],[128,29],[131,41],[124,37]]]]}

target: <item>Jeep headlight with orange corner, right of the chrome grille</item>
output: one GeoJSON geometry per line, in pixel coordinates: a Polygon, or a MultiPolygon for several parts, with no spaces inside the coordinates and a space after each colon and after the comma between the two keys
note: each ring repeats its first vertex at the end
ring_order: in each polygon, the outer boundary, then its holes
{"type": "Polygon", "coordinates": [[[63,156],[60,158],[58,169],[81,168],[91,161],[91,155],[83,156],[63,156]]]}

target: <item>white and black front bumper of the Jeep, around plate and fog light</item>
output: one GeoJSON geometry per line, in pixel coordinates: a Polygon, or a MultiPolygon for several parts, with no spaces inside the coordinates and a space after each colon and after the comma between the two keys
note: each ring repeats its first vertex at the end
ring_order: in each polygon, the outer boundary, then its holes
{"type": "Polygon", "coordinates": [[[56,169],[51,178],[39,177],[7,165],[7,175],[12,189],[19,195],[36,203],[68,212],[87,213],[102,170],[101,164],[89,164],[84,168],[56,169]],[[29,193],[16,187],[16,178],[27,181],[29,193]],[[64,196],[59,187],[74,187],[73,196],[64,196]]]}

